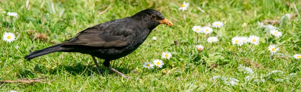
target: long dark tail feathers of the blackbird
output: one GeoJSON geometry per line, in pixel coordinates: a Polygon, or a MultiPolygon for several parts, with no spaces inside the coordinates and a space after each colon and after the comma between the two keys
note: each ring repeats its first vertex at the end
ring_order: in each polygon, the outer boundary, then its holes
{"type": "Polygon", "coordinates": [[[39,56],[42,56],[42,55],[46,55],[46,54],[53,53],[53,52],[58,52],[58,51],[60,51],[60,46],[61,45],[62,44],[57,44],[57,45],[54,45],[54,46],[44,48],[42,50],[37,50],[37,51],[31,52],[30,54],[26,55],[24,57],[24,59],[31,60],[33,58],[36,58],[36,57],[39,57],[39,56]]]}

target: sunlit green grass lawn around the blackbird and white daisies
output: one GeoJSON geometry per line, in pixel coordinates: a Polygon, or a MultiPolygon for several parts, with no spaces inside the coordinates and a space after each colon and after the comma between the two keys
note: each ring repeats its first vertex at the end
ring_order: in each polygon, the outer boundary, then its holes
{"type": "MultiPolygon", "coordinates": [[[[19,92],[41,91],[301,91],[301,60],[292,58],[301,53],[301,1],[290,0],[205,0],[189,2],[187,11],[179,11],[182,0],[30,0],[30,9],[26,8],[26,0],[0,0],[0,35],[4,31],[13,32],[16,40],[7,43],[0,40],[0,80],[17,80],[19,78],[39,78],[46,76],[46,83],[0,84],[0,91],[15,90],[19,92]],[[138,2],[137,2],[138,1],[138,2]],[[109,7],[109,8],[108,8],[109,7]],[[201,12],[197,7],[202,8],[201,12]],[[107,9],[108,8],[108,9],[107,9]],[[103,65],[104,74],[97,74],[90,55],[80,53],[53,53],[31,61],[23,57],[30,49],[39,50],[52,43],[60,43],[76,35],[88,27],[106,21],[131,16],[141,10],[153,8],[160,11],[165,18],[173,22],[173,27],[159,25],[148,39],[133,53],[111,61],[111,65],[131,77],[125,80],[103,65]],[[99,14],[107,9],[106,12],[99,14]],[[16,12],[18,18],[2,13],[16,12]],[[280,20],[284,14],[297,13],[294,19],[283,25],[276,24],[283,36],[275,38],[262,28],[257,21],[280,20]],[[219,41],[213,44],[206,42],[204,34],[200,34],[200,43],[205,50],[196,60],[196,33],[191,30],[195,25],[205,26],[214,21],[224,22],[220,29],[219,41]],[[45,33],[48,41],[34,40],[28,31],[45,33]],[[260,37],[260,44],[246,53],[250,44],[239,47],[232,45],[231,38],[237,35],[260,37]],[[152,36],[158,39],[151,40],[152,36]],[[180,45],[171,45],[174,40],[180,45]],[[280,51],[270,60],[268,46],[279,46],[280,51]],[[16,49],[15,46],[20,46],[16,49]],[[147,69],[143,62],[161,59],[164,51],[172,53],[170,60],[163,60],[166,65],[160,69],[147,69]],[[124,59],[124,62],[121,63],[124,59]],[[213,65],[215,63],[215,66],[213,65]],[[238,67],[250,67],[254,70],[254,79],[245,81],[248,74],[239,71],[238,67]],[[133,72],[133,71],[137,72],[133,72]],[[162,76],[163,70],[170,70],[162,76]],[[283,74],[266,76],[273,70],[281,70],[283,74]],[[296,73],[289,78],[288,75],[296,73]],[[265,83],[256,83],[261,74],[265,83]],[[51,81],[55,76],[54,81],[51,81]],[[213,81],[213,76],[226,76],[238,79],[237,86],[229,86],[222,81],[213,81]],[[282,78],[283,82],[275,79],[282,78]]],[[[213,29],[211,36],[215,35],[213,29]]],[[[98,59],[100,62],[103,60],[98,59]]]]}

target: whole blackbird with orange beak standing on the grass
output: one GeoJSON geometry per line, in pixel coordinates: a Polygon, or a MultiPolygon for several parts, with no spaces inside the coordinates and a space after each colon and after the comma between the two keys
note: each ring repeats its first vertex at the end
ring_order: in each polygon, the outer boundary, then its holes
{"type": "Polygon", "coordinates": [[[124,57],[135,51],[159,24],[173,26],[157,10],[145,9],[133,16],[108,21],[79,32],[75,37],[60,44],[31,52],[24,58],[33,58],[54,52],[77,52],[91,55],[98,71],[95,57],[105,60],[104,66],[122,73],[110,66],[110,61],[124,57]]]}

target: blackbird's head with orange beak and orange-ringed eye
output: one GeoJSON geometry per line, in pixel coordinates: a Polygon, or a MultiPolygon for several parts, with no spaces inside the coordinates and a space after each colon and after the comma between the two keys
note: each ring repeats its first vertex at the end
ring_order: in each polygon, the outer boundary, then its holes
{"type": "Polygon", "coordinates": [[[165,24],[167,26],[173,26],[173,23],[165,19],[163,14],[154,9],[145,9],[135,15],[131,16],[133,19],[137,19],[147,24],[149,28],[154,29],[159,24],[165,24]]]}

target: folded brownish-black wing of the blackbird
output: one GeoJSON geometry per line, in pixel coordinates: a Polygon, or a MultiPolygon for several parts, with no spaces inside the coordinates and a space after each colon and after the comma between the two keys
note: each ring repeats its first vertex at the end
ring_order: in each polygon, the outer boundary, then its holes
{"type": "Polygon", "coordinates": [[[63,45],[84,45],[92,47],[123,47],[128,44],[132,30],[126,27],[128,20],[114,20],[78,33],[63,45]]]}

